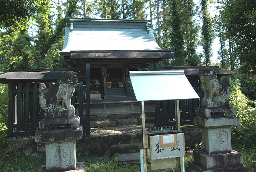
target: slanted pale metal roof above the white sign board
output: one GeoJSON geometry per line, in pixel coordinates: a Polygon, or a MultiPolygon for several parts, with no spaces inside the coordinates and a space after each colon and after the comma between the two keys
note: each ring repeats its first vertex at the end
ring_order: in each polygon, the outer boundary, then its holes
{"type": "Polygon", "coordinates": [[[179,71],[130,71],[137,101],[198,99],[199,96],[179,71]]]}

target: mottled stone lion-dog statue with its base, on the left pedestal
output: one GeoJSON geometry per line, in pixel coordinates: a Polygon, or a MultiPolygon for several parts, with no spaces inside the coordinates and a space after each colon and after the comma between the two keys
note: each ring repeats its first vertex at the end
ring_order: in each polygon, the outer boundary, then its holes
{"type": "Polygon", "coordinates": [[[73,129],[79,126],[80,119],[71,105],[76,84],[76,72],[62,71],[60,78],[51,88],[47,88],[44,83],[39,85],[39,104],[45,111],[44,119],[39,123],[40,130],[50,130],[55,124],[70,123],[73,129]],[[62,102],[64,106],[61,105],[62,102]]]}

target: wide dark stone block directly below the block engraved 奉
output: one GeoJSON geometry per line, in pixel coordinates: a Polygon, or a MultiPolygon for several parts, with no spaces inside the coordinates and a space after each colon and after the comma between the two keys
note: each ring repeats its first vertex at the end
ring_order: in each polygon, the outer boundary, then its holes
{"type": "Polygon", "coordinates": [[[204,169],[229,168],[243,165],[243,155],[240,152],[207,154],[202,150],[194,151],[194,162],[204,169]]]}

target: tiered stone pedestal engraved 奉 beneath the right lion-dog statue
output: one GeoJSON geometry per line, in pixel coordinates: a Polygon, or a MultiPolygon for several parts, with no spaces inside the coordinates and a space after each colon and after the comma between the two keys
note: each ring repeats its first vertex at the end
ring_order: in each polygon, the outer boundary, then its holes
{"type": "Polygon", "coordinates": [[[230,127],[238,125],[238,117],[194,117],[194,123],[202,127],[203,149],[194,151],[192,170],[199,172],[249,172],[243,165],[241,153],[232,151],[230,127]]]}

